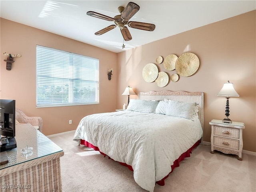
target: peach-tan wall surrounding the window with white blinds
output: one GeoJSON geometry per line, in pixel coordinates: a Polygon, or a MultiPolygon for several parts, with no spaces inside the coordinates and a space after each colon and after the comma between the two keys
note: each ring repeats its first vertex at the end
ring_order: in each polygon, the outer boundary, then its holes
{"type": "Polygon", "coordinates": [[[43,133],[75,130],[82,117],[116,109],[117,54],[76,40],[38,30],[16,22],[0,20],[0,98],[15,99],[16,107],[28,116],[43,119],[43,133]],[[36,108],[36,45],[47,46],[100,60],[100,104],[36,108]],[[6,70],[4,52],[21,54],[14,58],[12,70],[6,70]],[[108,69],[114,68],[112,80],[108,69]],[[72,124],[68,121],[72,120],[72,124]]]}

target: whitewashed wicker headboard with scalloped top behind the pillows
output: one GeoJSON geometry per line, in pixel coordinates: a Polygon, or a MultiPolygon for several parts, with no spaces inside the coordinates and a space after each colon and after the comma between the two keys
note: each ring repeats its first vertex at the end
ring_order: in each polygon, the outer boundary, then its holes
{"type": "Polygon", "coordinates": [[[182,102],[195,102],[198,104],[198,116],[204,130],[204,93],[203,92],[186,92],[186,91],[150,91],[139,92],[139,99],[142,100],[164,100],[170,99],[182,102]]]}

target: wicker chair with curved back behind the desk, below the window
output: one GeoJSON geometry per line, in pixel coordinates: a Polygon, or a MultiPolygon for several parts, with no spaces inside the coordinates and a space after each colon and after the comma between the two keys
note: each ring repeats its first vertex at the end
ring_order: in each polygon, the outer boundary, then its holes
{"type": "Polygon", "coordinates": [[[41,117],[28,117],[22,110],[16,108],[15,110],[15,119],[19,123],[29,123],[32,126],[38,126],[38,130],[42,132],[43,130],[43,120],[41,117]]]}

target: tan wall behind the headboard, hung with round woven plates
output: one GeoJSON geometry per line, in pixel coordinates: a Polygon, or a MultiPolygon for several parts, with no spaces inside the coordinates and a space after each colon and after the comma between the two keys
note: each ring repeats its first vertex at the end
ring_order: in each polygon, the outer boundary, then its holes
{"type": "MultiPolygon", "coordinates": [[[[157,25],[156,25],[157,27],[157,25]]],[[[154,35],[154,32],[151,32],[154,35]]],[[[204,92],[204,141],[210,142],[212,119],[225,117],[226,98],[216,94],[228,80],[234,83],[238,98],[230,98],[230,119],[245,123],[244,150],[256,152],[256,11],[183,32],[118,54],[118,108],[127,102],[124,88],[132,86],[138,93],[150,90],[184,90],[204,92]],[[180,77],[164,88],[142,78],[142,69],[156,63],[158,56],[196,54],[198,71],[190,77],[180,77]]],[[[170,75],[163,64],[159,71],[170,75]]],[[[137,98],[137,96],[130,96],[137,98]]]]}

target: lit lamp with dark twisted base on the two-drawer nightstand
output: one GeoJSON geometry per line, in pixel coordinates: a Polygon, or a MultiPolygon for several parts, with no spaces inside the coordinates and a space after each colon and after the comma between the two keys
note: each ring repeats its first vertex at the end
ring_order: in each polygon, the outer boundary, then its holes
{"type": "Polygon", "coordinates": [[[220,92],[218,92],[217,96],[222,96],[222,97],[226,97],[227,102],[226,102],[226,118],[224,118],[222,120],[222,122],[225,123],[232,123],[232,121],[228,118],[229,116],[229,102],[228,99],[230,97],[239,97],[238,93],[236,92],[233,83],[230,83],[229,81],[227,83],[224,83],[222,89],[220,90],[220,92]]]}

